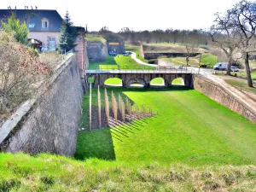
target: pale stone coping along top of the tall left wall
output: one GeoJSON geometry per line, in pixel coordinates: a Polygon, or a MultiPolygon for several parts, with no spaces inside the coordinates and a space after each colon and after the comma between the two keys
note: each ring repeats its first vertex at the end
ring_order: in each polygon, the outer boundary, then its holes
{"type": "MultiPolygon", "coordinates": [[[[61,61],[61,64],[59,64],[57,67],[55,67],[55,73],[53,77],[51,77],[49,80],[46,80],[44,82],[40,82],[38,84],[38,89],[40,89],[43,86],[49,87],[50,84],[55,82],[55,79],[57,79],[61,73],[64,72],[64,70],[71,65],[70,60],[72,60],[74,54],[68,54],[66,56],[61,57],[61,59],[64,59],[61,61]]],[[[11,115],[9,119],[7,119],[3,125],[0,127],[0,144],[4,141],[5,138],[9,136],[9,133],[14,130],[15,126],[18,125],[20,120],[30,111],[32,106],[35,104],[35,102],[38,101],[39,96],[42,94],[37,94],[36,96],[33,96],[31,99],[26,100],[26,102],[22,102],[20,107],[11,115]]]]}

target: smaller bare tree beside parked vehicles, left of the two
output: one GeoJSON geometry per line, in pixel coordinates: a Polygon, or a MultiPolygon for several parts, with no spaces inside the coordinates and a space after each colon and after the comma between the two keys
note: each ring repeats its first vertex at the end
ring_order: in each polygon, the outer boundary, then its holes
{"type": "Polygon", "coordinates": [[[238,46],[238,41],[230,12],[227,11],[227,14],[224,16],[217,13],[214,22],[215,25],[211,27],[211,32],[207,32],[207,34],[212,38],[213,44],[219,49],[222,49],[227,56],[227,74],[231,75],[231,63],[233,61],[234,52],[238,46]]]}

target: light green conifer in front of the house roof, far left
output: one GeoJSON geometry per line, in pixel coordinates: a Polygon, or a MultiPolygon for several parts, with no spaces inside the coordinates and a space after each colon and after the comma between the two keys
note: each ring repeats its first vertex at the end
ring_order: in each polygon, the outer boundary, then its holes
{"type": "Polygon", "coordinates": [[[15,18],[15,13],[12,12],[7,20],[7,23],[1,21],[3,30],[5,32],[15,33],[15,39],[20,44],[27,44],[28,29],[26,27],[26,22],[24,21],[20,24],[20,20],[15,18]]]}

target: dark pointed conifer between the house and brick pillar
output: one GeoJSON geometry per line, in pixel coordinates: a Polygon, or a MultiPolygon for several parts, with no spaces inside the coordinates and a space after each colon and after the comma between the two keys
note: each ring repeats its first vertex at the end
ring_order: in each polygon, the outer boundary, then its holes
{"type": "Polygon", "coordinates": [[[75,42],[77,37],[78,32],[75,26],[73,26],[73,22],[71,21],[69,13],[67,12],[61,24],[61,34],[59,38],[60,49],[66,51],[74,49],[76,46],[75,42]]]}

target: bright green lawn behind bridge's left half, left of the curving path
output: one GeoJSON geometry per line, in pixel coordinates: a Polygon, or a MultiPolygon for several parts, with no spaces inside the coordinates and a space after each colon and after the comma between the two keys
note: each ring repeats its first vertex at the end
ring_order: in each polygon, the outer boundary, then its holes
{"type": "Polygon", "coordinates": [[[136,70],[136,69],[154,69],[154,67],[148,67],[148,66],[138,64],[136,61],[131,59],[131,55],[129,56],[108,55],[106,58],[106,61],[90,62],[89,69],[108,69],[108,70],[135,69],[136,70]]]}

